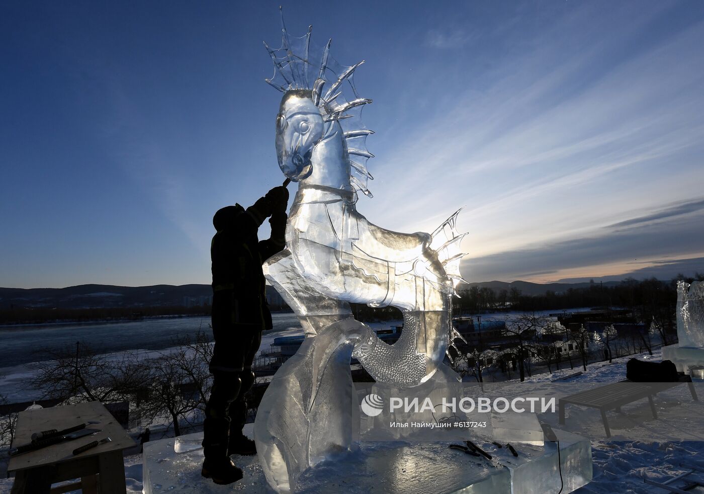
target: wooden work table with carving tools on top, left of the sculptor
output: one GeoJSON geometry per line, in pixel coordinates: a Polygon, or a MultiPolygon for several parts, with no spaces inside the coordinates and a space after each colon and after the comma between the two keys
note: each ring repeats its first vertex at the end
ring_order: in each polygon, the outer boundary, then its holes
{"type": "Polygon", "coordinates": [[[15,473],[12,493],[65,493],[80,488],[86,494],[98,491],[101,494],[124,494],[127,488],[122,450],[135,443],[100,402],[20,412],[12,445],[30,443],[34,432],[54,428],[61,431],[88,421],[98,423],[89,424],[87,428],[100,429],[101,432],[11,457],[8,472],[15,473]],[[112,441],[73,455],[75,448],[106,437],[112,441]],[[72,478],[81,481],[51,488],[52,483],[72,478]]]}

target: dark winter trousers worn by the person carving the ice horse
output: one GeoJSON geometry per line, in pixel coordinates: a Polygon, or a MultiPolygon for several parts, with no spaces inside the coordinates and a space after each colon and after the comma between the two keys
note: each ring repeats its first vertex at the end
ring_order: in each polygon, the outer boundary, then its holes
{"type": "Polygon", "coordinates": [[[227,329],[218,331],[213,319],[213,387],[203,422],[203,455],[215,461],[225,460],[228,443],[242,436],[247,414],[244,395],[254,383],[252,363],[262,334],[260,325],[238,324],[227,329]]]}

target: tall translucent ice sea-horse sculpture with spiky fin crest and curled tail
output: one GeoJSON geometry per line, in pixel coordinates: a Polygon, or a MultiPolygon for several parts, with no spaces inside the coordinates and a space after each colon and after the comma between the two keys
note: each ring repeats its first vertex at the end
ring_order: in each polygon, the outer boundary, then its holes
{"type": "MultiPolygon", "coordinates": [[[[270,49],[283,93],[276,119],[279,167],[298,182],[287,223],[287,249],[268,259],[265,276],[294,309],[306,340],[272,379],[258,408],[255,440],[268,483],[296,490],[302,471],[335,452],[356,447],[359,403],[350,359],[377,382],[415,386],[447,380],[448,345],[460,338],[451,323],[451,297],[462,279],[464,235],[453,214],[432,235],[396,233],[367,221],[356,209],[358,192],[371,197],[360,122],[370,99],[358,96],[353,73],[340,67],[332,39],[320,63],[309,58],[310,32],[270,49]],[[348,94],[349,93],[349,94],[348,94]],[[350,302],[394,306],[403,333],[387,345],[353,318],[350,302]]],[[[456,374],[455,374],[456,377],[456,374]]]]}

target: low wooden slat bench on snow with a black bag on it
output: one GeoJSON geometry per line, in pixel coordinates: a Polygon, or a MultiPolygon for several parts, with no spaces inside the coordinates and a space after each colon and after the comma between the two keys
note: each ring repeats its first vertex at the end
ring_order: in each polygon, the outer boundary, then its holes
{"type": "Polygon", "coordinates": [[[636,383],[629,379],[624,379],[624,381],[619,381],[618,383],[611,383],[591,390],[582,391],[581,393],[575,393],[574,395],[565,396],[558,401],[560,424],[565,424],[565,405],[569,404],[596,408],[601,412],[601,421],[604,424],[606,437],[610,438],[611,431],[608,419],[606,418],[606,412],[608,412],[608,410],[615,409],[616,412],[621,412],[623,405],[648,398],[650,411],[653,412],[653,418],[657,419],[658,412],[655,411],[653,396],[661,391],[674,388],[684,383],[689,385],[689,392],[692,395],[692,399],[699,401],[691,377],[685,376],[684,374],[679,375],[678,381],[671,383],[636,383]]]}

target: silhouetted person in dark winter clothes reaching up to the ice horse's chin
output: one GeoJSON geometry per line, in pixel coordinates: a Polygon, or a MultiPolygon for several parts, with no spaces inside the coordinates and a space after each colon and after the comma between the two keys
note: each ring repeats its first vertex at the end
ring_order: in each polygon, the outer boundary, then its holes
{"type": "Polygon", "coordinates": [[[265,295],[263,262],[284,248],[289,192],[275,187],[253,206],[236,204],[213,217],[213,336],[210,361],[213,388],[203,423],[203,476],[231,483],[242,472],[230,455],[254,455],[254,441],[244,436],[244,395],[254,383],[252,362],[262,331],[272,328],[265,295]],[[271,236],[258,240],[257,230],[270,217],[271,236]]]}

